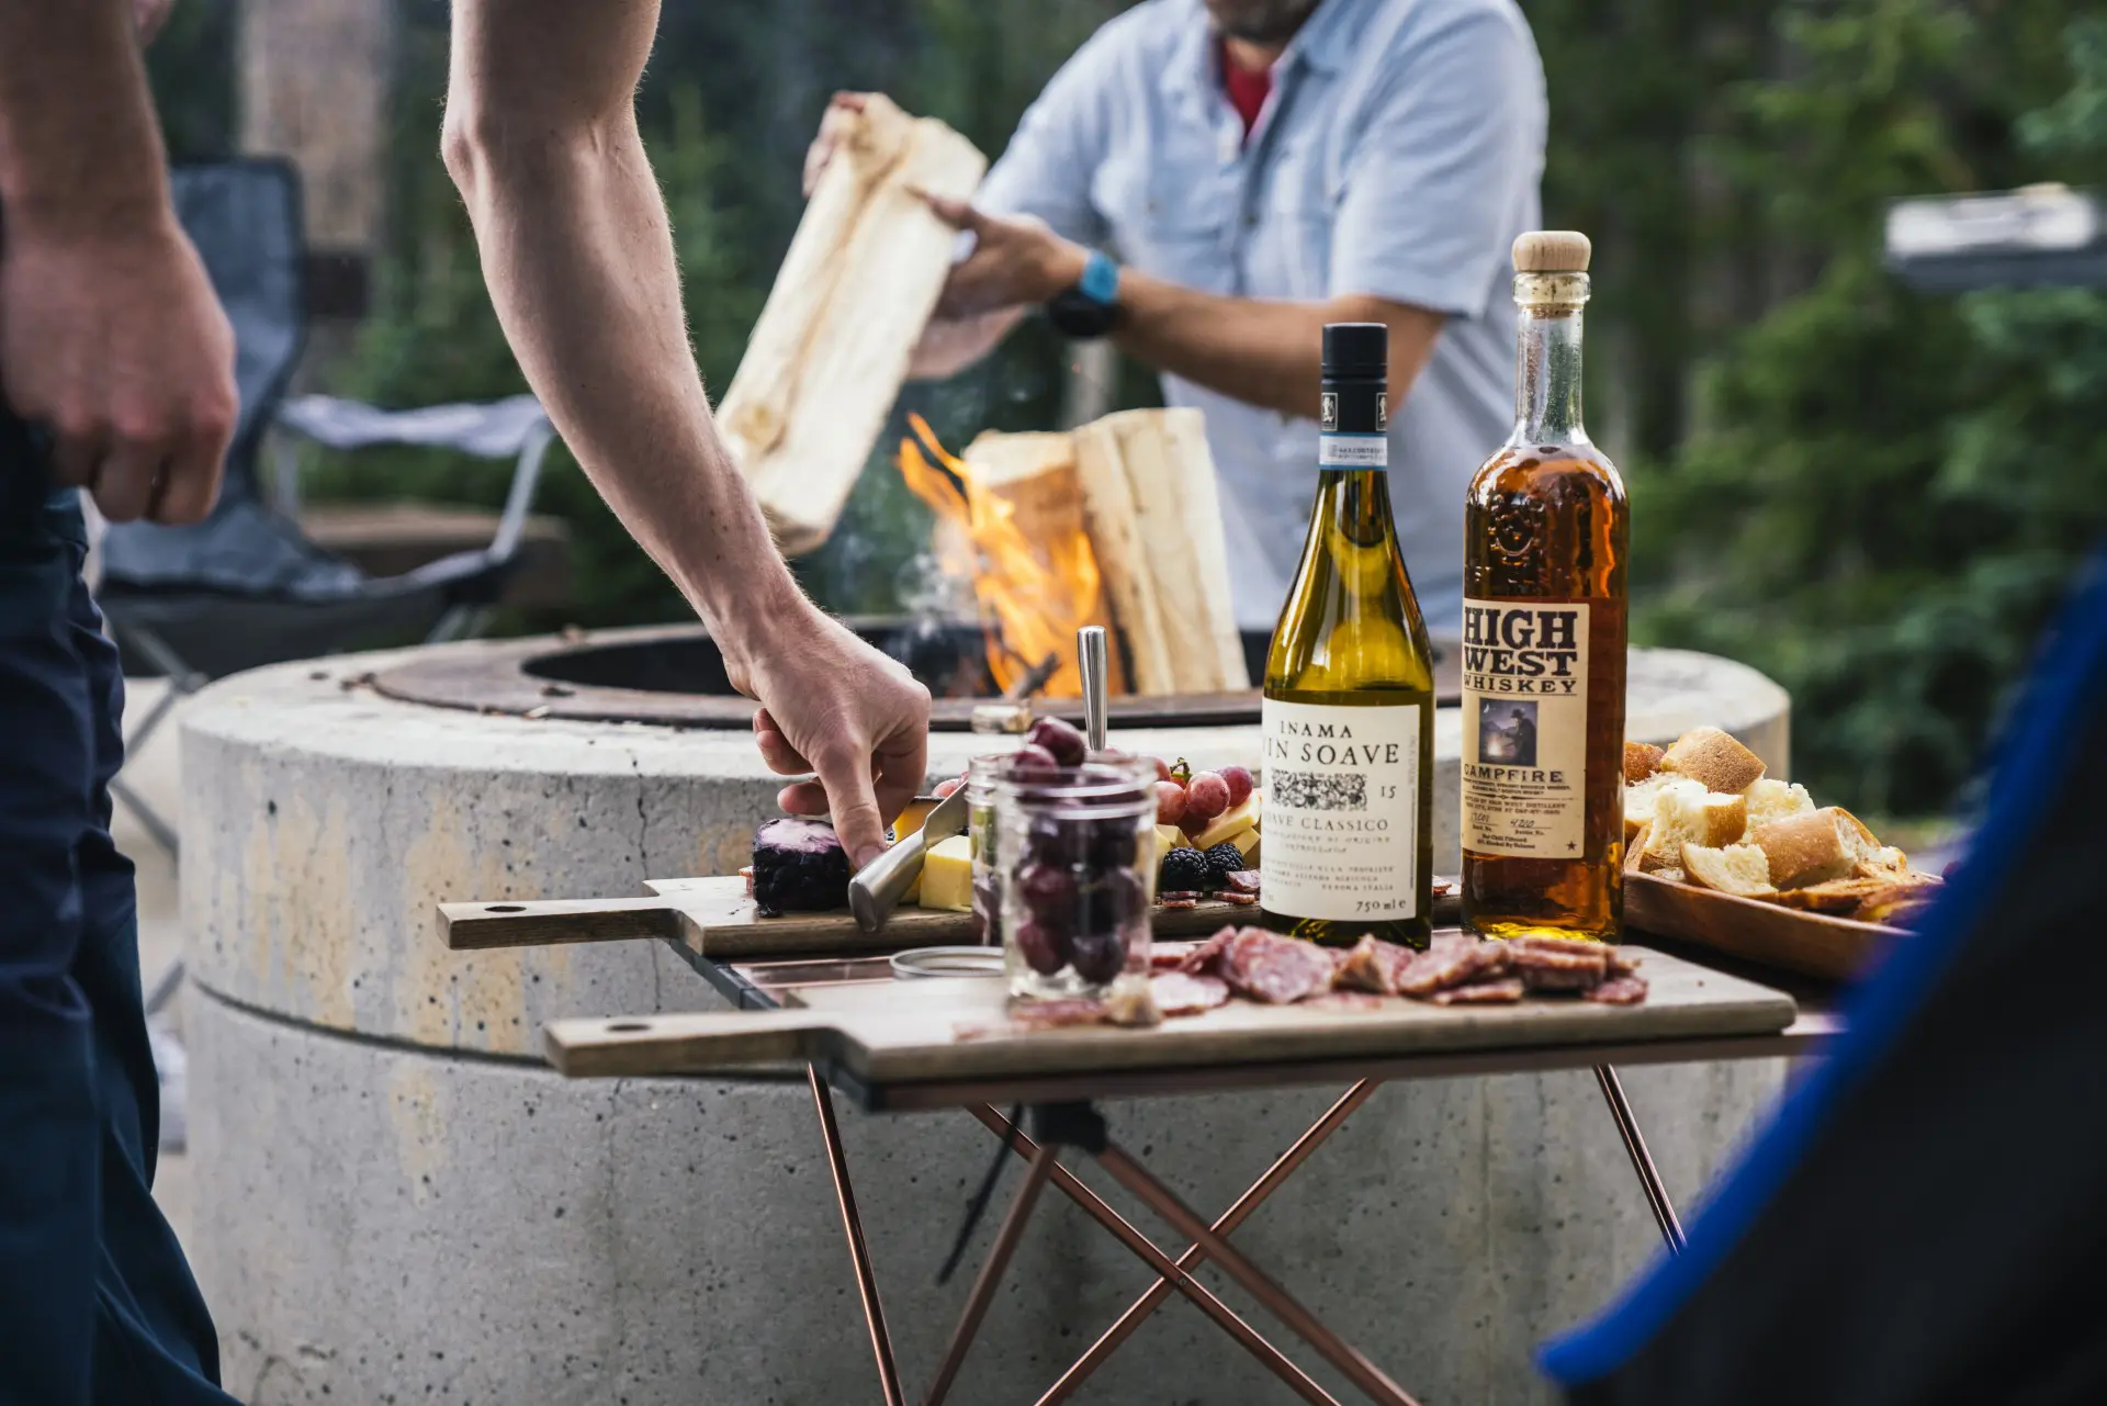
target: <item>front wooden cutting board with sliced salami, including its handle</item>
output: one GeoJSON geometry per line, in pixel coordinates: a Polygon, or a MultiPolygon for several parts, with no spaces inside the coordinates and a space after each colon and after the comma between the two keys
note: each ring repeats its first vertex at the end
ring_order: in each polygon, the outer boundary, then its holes
{"type": "Polygon", "coordinates": [[[567,1075],[721,1073],[754,1065],[832,1062],[872,1083],[1072,1075],[1551,1043],[1641,1041],[1783,1031],[1783,991],[1627,946],[1652,982],[1643,1005],[1530,997],[1517,1005],[1429,1005],[1405,997],[1372,1010],[1230,1001],[1146,1029],[1020,1031],[1005,1022],[999,978],[931,978],[805,987],[773,1012],[558,1020],[548,1058],[567,1075]]]}

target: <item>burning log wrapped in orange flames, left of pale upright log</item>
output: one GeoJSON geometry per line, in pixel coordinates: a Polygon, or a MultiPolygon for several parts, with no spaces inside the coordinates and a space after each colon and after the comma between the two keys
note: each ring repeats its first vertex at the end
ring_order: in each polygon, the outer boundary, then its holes
{"type": "MultiPolygon", "coordinates": [[[[1011,698],[1079,698],[1075,632],[1110,620],[1072,470],[959,460],[921,415],[908,422],[914,438],[900,443],[900,474],[938,514],[938,567],[973,586],[997,689],[1011,698]]],[[[1009,434],[999,443],[1028,451],[1032,438],[1009,434]]],[[[1117,658],[1112,675],[1112,691],[1125,691],[1117,658]]]]}

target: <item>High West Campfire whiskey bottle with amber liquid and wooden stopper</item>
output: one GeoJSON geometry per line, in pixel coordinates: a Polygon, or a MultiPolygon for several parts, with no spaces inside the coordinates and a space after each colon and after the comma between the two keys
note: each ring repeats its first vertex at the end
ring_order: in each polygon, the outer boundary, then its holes
{"type": "Polygon", "coordinates": [[[1515,240],[1515,432],[1464,506],[1462,915],[1614,940],[1624,917],[1624,556],[1580,424],[1584,234],[1515,240]]]}

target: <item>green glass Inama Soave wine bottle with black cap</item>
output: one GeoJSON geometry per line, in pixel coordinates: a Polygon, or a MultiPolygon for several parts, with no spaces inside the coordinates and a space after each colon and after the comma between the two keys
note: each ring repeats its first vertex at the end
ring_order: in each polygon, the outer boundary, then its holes
{"type": "Polygon", "coordinates": [[[1391,523],[1389,329],[1323,329],[1317,506],[1266,653],[1260,913],[1298,938],[1433,934],[1435,668],[1391,523]]]}

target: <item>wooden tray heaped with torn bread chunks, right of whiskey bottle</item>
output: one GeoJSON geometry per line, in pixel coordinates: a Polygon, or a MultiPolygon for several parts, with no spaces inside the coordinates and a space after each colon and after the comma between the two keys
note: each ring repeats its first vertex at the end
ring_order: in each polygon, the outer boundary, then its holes
{"type": "Polygon", "coordinates": [[[1624,744],[1624,923],[1848,980],[1909,936],[1941,879],[1764,769],[1717,727],[1624,744]]]}

